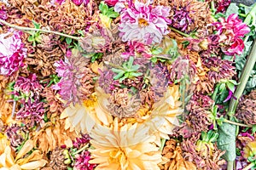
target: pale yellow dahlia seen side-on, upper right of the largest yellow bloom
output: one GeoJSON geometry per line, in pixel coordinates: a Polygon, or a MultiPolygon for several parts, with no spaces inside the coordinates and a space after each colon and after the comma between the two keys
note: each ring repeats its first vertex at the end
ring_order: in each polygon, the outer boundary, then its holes
{"type": "Polygon", "coordinates": [[[167,88],[166,94],[153,105],[151,116],[145,122],[150,131],[159,133],[162,139],[169,139],[168,134],[171,134],[172,129],[178,125],[176,116],[183,113],[179,97],[178,86],[167,88]]]}

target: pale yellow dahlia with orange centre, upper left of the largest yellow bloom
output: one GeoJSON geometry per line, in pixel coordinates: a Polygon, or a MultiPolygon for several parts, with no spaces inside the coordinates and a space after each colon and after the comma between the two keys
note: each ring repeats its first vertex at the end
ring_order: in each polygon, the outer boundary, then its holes
{"type": "Polygon", "coordinates": [[[113,117],[105,109],[108,105],[106,95],[101,92],[101,89],[97,89],[91,99],[84,100],[83,104],[69,105],[61,113],[61,119],[65,119],[65,129],[79,134],[90,133],[96,123],[110,126],[113,117]]]}

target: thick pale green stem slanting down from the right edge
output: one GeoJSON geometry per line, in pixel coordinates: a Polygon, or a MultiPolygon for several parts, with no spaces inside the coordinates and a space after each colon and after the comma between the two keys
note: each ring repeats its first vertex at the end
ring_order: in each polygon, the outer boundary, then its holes
{"type": "Polygon", "coordinates": [[[232,98],[230,101],[230,106],[228,110],[229,116],[233,116],[236,112],[236,106],[238,105],[239,99],[241,98],[241,95],[247,85],[247,81],[250,77],[250,73],[253,70],[253,66],[255,65],[255,62],[256,62],[255,55],[256,55],[256,41],[253,42],[252,51],[249,54],[245,67],[241,73],[241,78],[239,80],[240,83],[236,88],[234,98],[232,98]]]}

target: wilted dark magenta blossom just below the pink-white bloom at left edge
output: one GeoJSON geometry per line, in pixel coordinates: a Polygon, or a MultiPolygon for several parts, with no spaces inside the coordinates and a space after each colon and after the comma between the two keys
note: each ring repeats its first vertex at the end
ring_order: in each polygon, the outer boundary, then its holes
{"type": "Polygon", "coordinates": [[[40,91],[43,89],[43,86],[38,82],[36,74],[33,73],[28,77],[18,77],[14,88],[15,92],[20,92],[32,97],[34,94],[39,95],[40,91]]]}

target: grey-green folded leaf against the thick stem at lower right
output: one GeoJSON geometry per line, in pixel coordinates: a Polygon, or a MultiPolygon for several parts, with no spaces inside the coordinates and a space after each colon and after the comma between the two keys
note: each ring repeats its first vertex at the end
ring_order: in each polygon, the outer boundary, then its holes
{"type": "Polygon", "coordinates": [[[224,122],[218,127],[218,149],[226,150],[224,159],[235,161],[236,159],[236,126],[224,122]]]}

